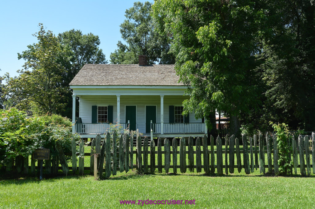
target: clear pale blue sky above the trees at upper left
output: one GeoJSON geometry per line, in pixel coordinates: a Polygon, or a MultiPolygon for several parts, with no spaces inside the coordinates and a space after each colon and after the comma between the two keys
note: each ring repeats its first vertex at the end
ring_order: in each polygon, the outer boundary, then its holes
{"type": "MultiPolygon", "coordinates": [[[[140,2],[145,2],[141,1],[140,2]]],[[[153,3],[153,1],[150,1],[153,3]]],[[[126,9],[133,0],[116,1],[2,1],[0,9],[0,76],[9,72],[16,76],[24,60],[17,53],[27,50],[36,42],[32,36],[38,31],[38,23],[55,35],[71,29],[83,34],[93,33],[100,38],[100,48],[109,60],[122,40],[119,25],[125,19],[126,9]]]]}

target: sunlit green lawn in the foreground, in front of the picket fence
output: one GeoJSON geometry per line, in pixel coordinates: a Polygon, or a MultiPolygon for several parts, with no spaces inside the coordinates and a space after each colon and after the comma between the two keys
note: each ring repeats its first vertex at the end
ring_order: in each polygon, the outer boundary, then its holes
{"type": "MultiPolygon", "coordinates": [[[[189,173],[0,180],[0,208],[126,208],[119,200],[195,200],[196,205],[137,208],[313,208],[314,176],[212,177],[189,173]]],[[[138,201],[137,201],[138,202],[138,201]]]]}

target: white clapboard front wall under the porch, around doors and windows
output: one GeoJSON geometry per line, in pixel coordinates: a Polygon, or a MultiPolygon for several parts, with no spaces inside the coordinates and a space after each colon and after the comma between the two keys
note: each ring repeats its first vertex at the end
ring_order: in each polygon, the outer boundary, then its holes
{"type": "MultiPolygon", "coordinates": [[[[184,96],[164,96],[164,123],[169,123],[169,105],[181,105],[184,96]]],[[[79,117],[83,123],[92,122],[92,106],[113,106],[113,119],[117,122],[117,97],[116,96],[80,96],[79,117]]],[[[137,106],[137,128],[139,132],[146,131],[146,105],[157,105],[157,123],[161,122],[161,100],[160,96],[120,96],[120,122],[125,123],[125,106],[137,106]]],[[[194,113],[189,114],[190,123],[201,123],[201,119],[196,120],[194,113]]]]}

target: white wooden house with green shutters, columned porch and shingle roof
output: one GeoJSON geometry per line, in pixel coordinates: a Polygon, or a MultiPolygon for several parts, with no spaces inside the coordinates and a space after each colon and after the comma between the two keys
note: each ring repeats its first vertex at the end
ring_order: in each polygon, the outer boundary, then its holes
{"type": "MultiPolygon", "coordinates": [[[[145,57],[143,57],[145,59],[145,57]]],[[[174,65],[85,64],[70,83],[73,90],[72,131],[83,138],[104,134],[110,123],[153,137],[203,136],[202,119],[183,116],[186,86],[174,65]],[[75,121],[76,97],[79,118],[75,121]],[[152,122],[151,122],[152,121],[152,122]]]]}

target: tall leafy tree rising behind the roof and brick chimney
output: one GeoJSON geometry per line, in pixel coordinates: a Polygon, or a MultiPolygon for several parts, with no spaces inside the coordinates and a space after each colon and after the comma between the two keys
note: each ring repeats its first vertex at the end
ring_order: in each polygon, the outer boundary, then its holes
{"type": "Polygon", "coordinates": [[[135,2],[126,10],[127,19],[120,25],[126,44],[118,41],[118,49],[110,55],[112,64],[138,64],[138,55],[146,55],[149,64],[174,64],[175,57],[169,51],[171,38],[154,30],[151,6],[150,2],[135,2]]]}

